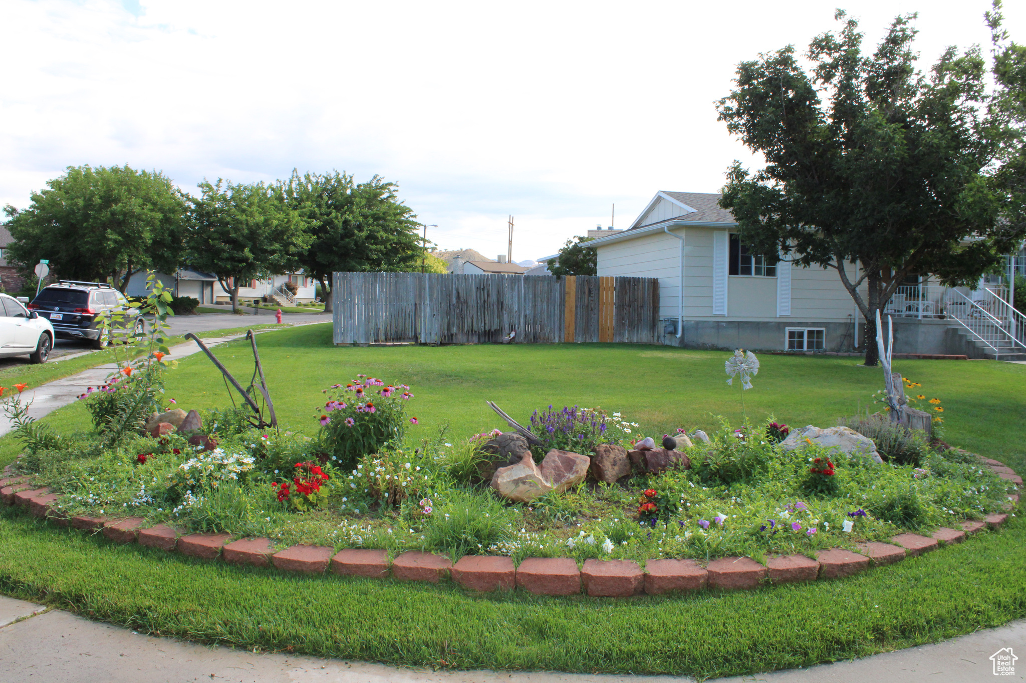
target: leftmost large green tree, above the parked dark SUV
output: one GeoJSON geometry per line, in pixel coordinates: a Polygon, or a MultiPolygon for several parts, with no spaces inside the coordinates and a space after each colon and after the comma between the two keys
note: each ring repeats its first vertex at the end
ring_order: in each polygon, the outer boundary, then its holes
{"type": "Polygon", "coordinates": [[[61,278],[111,282],[124,293],[133,273],[181,264],[185,198],[162,173],[70,166],[46,184],[29,208],[5,208],[7,258],[23,272],[45,258],[61,278]]]}

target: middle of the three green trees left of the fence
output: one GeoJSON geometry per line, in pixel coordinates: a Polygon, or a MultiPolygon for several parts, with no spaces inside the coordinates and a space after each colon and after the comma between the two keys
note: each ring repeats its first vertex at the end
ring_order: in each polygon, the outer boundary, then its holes
{"type": "Polygon", "coordinates": [[[311,237],[281,187],[219,178],[199,188],[200,197],[190,201],[190,263],[218,276],[232,294],[233,309],[242,283],[300,267],[311,237]]]}

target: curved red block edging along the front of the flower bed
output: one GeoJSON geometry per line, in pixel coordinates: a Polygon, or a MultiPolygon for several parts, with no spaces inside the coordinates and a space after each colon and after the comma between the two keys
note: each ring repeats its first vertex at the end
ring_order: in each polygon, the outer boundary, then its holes
{"type": "MultiPolygon", "coordinates": [[[[1015,476],[997,461],[981,459],[1003,478],[1015,476]]],[[[5,472],[6,474],[6,472],[5,472]]],[[[1018,477],[1016,477],[1018,478],[1018,477]]],[[[1017,482],[1018,483],[1018,482],[1017,482]]],[[[420,551],[406,551],[391,562],[384,550],[350,548],[339,553],[325,546],[297,545],[275,552],[270,539],[238,539],[228,533],[190,533],[179,536],[166,524],[144,528],[139,517],[112,520],[105,517],[76,516],[68,519],[55,505],[60,496],[48,488],[35,488],[31,477],[0,476],[0,505],[19,505],[36,517],[56,524],[91,531],[102,531],[121,544],[139,543],[165,551],[177,550],[200,559],[218,559],[235,564],[274,566],[293,573],[337,574],[386,578],[400,581],[426,581],[437,584],[451,580],[467,590],[489,592],[521,588],[539,595],[580,595],[629,597],[641,593],[661,595],[675,591],[704,588],[751,589],[759,585],[840,579],[882,566],[906,557],[915,557],[941,546],[961,543],[966,535],[998,528],[1019,504],[1019,496],[1010,496],[1007,513],[987,515],[983,521],[963,521],[959,528],[941,527],[932,537],[900,533],[891,543],[859,544],[859,552],[830,548],[817,553],[817,559],[804,555],[775,556],[760,564],[749,557],[721,557],[703,567],[695,560],[655,559],[642,569],[630,560],[586,560],[578,568],[566,557],[528,557],[513,566],[509,557],[467,555],[455,565],[447,557],[420,551]]]]}

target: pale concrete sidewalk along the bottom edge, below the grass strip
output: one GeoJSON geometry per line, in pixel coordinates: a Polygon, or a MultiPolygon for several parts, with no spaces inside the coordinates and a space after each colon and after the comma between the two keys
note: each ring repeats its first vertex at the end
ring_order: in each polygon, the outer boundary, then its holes
{"type": "MultiPolygon", "coordinates": [[[[0,597],[0,681],[35,683],[692,683],[672,676],[432,672],[378,664],[208,648],[140,635],[62,610],[0,597]],[[40,613],[42,612],[42,613],[40,613]],[[21,620],[21,621],[15,621],[21,620]],[[13,622],[13,623],[12,623],[13,622]]],[[[717,679],[718,683],[979,683],[995,680],[990,655],[1026,652],[1026,620],[953,640],[855,661],[717,679]]],[[[998,680],[1021,681],[1026,665],[998,680]]]]}

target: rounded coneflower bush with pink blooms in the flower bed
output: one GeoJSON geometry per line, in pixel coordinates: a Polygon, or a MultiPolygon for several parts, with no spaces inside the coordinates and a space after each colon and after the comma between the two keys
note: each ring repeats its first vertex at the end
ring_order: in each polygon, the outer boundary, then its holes
{"type": "MultiPolygon", "coordinates": [[[[392,386],[366,375],[357,377],[345,386],[336,384],[323,389],[328,400],[316,414],[321,425],[319,447],[337,459],[343,469],[352,469],[359,458],[390,442],[402,441],[407,425],[406,401],[413,397],[405,384],[392,386]]],[[[410,422],[417,424],[416,420],[411,418],[410,422]]]]}

